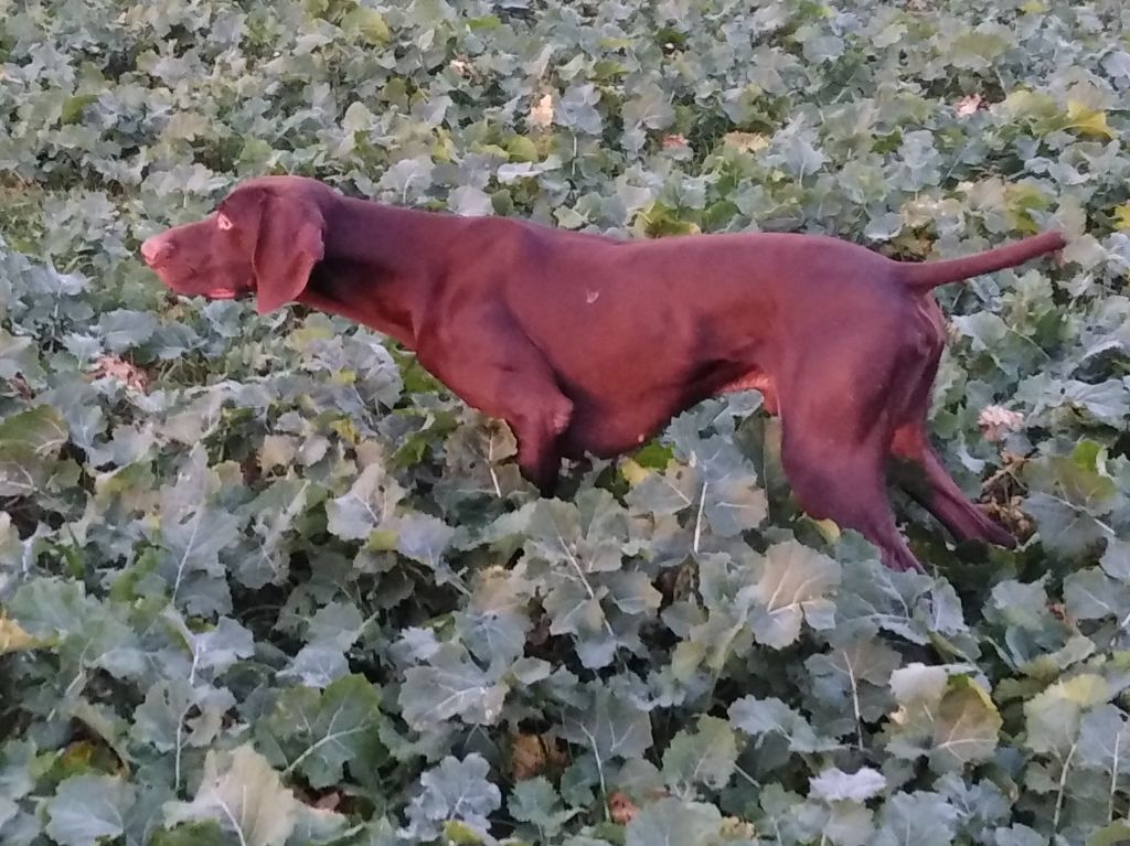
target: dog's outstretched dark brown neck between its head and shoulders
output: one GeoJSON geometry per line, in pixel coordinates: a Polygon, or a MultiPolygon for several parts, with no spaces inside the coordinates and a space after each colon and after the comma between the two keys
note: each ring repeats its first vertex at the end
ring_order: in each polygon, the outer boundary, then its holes
{"type": "Polygon", "coordinates": [[[344,197],[322,213],[325,254],[298,302],[416,349],[425,309],[450,272],[449,244],[473,221],[344,197]]]}

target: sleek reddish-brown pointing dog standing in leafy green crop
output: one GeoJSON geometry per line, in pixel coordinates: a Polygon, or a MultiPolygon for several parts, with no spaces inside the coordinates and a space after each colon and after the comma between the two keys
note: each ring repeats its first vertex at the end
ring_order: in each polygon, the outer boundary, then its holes
{"type": "Polygon", "coordinates": [[[510,424],[523,474],[553,490],[562,456],[632,450],[676,413],[756,387],[782,419],[805,509],[919,567],[885,487],[892,457],[958,539],[1011,546],[970,503],[925,433],[945,339],[930,289],[1059,250],[1049,232],[984,253],[892,261],[811,235],[615,241],[464,218],[279,176],[240,185],[141,254],[177,294],[297,300],[416,350],[466,402],[510,424]]]}

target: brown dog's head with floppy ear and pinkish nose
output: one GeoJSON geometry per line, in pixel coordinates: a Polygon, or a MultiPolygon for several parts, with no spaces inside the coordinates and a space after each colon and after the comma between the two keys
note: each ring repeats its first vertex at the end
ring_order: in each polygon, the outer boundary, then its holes
{"type": "Polygon", "coordinates": [[[172,290],[234,299],[255,295],[260,314],[295,299],[322,260],[323,203],[332,189],[301,176],[237,186],[203,220],[154,235],[141,258],[172,290]]]}

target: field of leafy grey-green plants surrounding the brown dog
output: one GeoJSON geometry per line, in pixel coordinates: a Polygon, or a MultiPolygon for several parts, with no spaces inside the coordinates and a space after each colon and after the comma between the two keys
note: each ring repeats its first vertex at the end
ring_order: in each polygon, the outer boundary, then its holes
{"type": "Polygon", "coordinates": [[[1130,840],[1128,145],[1123,0],[0,0],[0,843],[1130,840]],[[1058,226],[939,291],[931,431],[1023,542],[899,499],[928,573],[884,569],[755,392],[539,499],[388,339],[139,261],[266,173],[906,259],[1058,226]]]}

